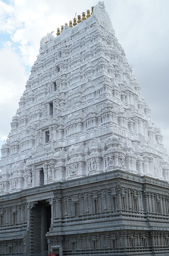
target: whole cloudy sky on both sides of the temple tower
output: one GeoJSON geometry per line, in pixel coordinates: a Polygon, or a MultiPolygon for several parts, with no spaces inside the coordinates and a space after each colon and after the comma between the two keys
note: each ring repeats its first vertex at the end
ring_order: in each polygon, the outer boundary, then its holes
{"type": "MultiPolygon", "coordinates": [[[[10,132],[40,39],[97,0],[0,0],[0,147],[10,132]]],[[[105,0],[169,152],[169,0],[105,0]]]]}

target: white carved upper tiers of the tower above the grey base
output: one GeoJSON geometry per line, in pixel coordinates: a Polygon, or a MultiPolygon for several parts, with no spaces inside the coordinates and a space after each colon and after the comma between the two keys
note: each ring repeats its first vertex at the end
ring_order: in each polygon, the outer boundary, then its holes
{"type": "Polygon", "coordinates": [[[1,195],[115,170],[169,180],[163,136],[103,2],[41,39],[1,151],[1,195]]]}

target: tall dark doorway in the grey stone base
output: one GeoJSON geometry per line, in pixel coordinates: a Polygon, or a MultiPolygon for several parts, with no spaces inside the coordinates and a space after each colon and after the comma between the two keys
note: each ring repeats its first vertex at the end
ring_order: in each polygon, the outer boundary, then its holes
{"type": "Polygon", "coordinates": [[[46,233],[51,225],[51,205],[40,201],[33,211],[33,256],[46,256],[48,241],[46,233]]]}

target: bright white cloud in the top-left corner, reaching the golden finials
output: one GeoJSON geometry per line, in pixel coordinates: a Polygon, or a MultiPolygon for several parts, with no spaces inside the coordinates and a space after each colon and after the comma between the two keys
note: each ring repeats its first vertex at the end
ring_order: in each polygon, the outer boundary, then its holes
{"type": "Polygon", "coordinates": [[[57,11],[58,3],[53,0],[50,4],[44,0],[12,2],[10,11],[6,10],[6,4],[2,4],[6,15],[1,18],[1,28],[11,35],[14,43],[19,44],[24,63],[32,66],[39,53],[41,37],[49,31],[56,31],[56,27],[69,18],[57,11]]]}

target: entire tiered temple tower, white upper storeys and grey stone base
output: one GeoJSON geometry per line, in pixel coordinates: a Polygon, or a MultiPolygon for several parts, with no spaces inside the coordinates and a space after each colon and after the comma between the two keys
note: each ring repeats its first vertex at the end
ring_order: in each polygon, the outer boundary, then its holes
{"type": "Polygon", "coordinates": [[[163,136],[103,2],[41,39],[1,151],[0,255],[167,255],[163,136]]]}

